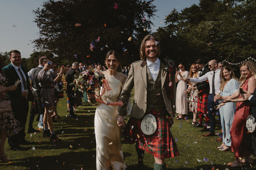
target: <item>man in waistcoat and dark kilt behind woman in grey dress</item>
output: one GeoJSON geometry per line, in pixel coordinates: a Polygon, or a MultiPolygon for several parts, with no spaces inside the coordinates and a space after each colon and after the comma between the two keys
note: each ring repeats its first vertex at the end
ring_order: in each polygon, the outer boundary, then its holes
{"type": "Polygon", "coordinates": [[[41,86],[39,85],[38,73],[44,68],[45,58],[46,58],[45,56],[42,56],[39,58],[38,67],[34,68],[31,74],[32,93],[35,99],[33,102],[31,102],[31,109],[30,109],[30,115],[29,115],[29,129],[27,130],[27,133],[33,133],[33,131],[35,131],[32,127],[35,114],[40,115],[39,122],[38,122],[39,129],[44,129],[43,116],[44,116],[45,110],[44,110],[44,107],[42,107],[41,86]]]}

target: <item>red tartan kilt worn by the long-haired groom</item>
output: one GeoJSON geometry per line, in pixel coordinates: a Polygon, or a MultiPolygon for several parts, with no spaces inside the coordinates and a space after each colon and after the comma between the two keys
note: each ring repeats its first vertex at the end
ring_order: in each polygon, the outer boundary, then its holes
{"type": "MultiPolygon", "coordinates": [[[[163,112],[155,111],[153,108],[148,112],[155,117],[163,112]]],[[[140,129],[143,118],[136,119],[131,117],[123,131],[124,142],[133,144],[138,143],[139,149],[142,149],[157,158],[174,158],[179,155],[177,145],[173,139],[169,124],[166,118],[166,111],[156,117],[157,130],[153,135],[145,135],[140,129]]]]}

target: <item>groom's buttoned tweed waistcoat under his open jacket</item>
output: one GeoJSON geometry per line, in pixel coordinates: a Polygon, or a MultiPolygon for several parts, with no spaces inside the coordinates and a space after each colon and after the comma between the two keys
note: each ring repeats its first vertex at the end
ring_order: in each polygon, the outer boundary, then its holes
{"type": "MultiPolygon", "coordinates": [[[[161,68],[161,66],[160,66],[161,68]]],[[[153,80],[150,72],[147,68],[147,109],[146,113],[148,113],[152,108],[155,111],[159,112],[163,108],[165,108],[165,102],[162,94],[162,84],[161,84],[161,71],[157,75],[157,79],[153,80]]]]}

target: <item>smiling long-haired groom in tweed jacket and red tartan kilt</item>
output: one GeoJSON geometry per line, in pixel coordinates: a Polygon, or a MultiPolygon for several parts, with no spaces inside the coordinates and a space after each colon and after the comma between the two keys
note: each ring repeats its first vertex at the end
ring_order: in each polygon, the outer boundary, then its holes
{"type": "Polygon", "coordinates": [[[176,66],[172,60],[168,60],[169,63],[161,62],[159,55],[158,38],[152,35],[145,36],[140,47],[142,60],[132,63],[119,97],[119,101],[123,101],[123,106],[118,106],[117,124],[125,126],[123,117],[127,116],[126,107],[134,86],[135,95],[131,118],[123,135],[125,142],[130,144],[136,142],[139,169],[144,167],[144,151],[154,156],[154,170],[165,170],[164,158],[179,155],[170,132],[175,115],[176,66]],[[157,122],[157,129],[152,135],[144,134],[140,127],[143,117],[147,114],[153,115],[157,122]]]}

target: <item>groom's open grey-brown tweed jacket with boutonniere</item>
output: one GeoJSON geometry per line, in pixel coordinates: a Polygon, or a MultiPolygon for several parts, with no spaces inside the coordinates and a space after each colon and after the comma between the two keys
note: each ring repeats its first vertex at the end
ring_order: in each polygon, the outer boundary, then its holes
{"type": "MultiPolygon", "coordinates": [[[[165,107],[167,108],[168,113],[173,118],[175,115],[175,72],[172,76],[172,99],[168,99],[166,87],[168,84],[166,83],[166,73],[163,76],[163,68],[165,67],[166,62],[161,63],[161,67],[159,68],[159,73],[161,75],[161,84],[162,84],[162,94],[163,100],[165,103],[165,107]]],[[[132,66],[129,71],[128,78],[124,84],[123,91],[119,97],[119,101],[123,102],[123,106],[118,106],[118,116],[126,116],[127,115],[127,102],[130,97],[132,88],[134,86],[134,100],[131,111],[131,116],[137,119],[143,117],[146,113],[147,103],[152,101],[147,101],[147,94],[152,93],[153,91],[149,91],[148,82],[147,82],[147,62],[146,60],[140,60],[132,63],[132,66]]]]}

